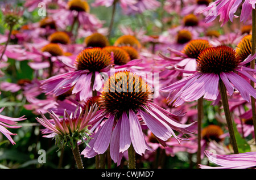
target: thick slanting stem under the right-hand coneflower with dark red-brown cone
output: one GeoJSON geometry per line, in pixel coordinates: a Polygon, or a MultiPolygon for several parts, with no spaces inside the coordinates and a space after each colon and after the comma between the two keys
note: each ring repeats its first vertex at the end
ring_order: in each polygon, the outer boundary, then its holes
{"type": "Polygon", "coordinates": [[[227,123],[228,129],[229,129],[230,142],[233,146],[234,153],[238,154],[239,152],[238,152],[238,148],[237,148],[236,137],[234,135],[232,117],[231,117],[230,110],[229,110],[228,95],[226,94],[225,84],[222,82],[221,79],[219,81],[218,86],[219,86],[219,89],[220,89],[222,105],[223,105],[224,112],[225,112],[226,123],[227,123]]]}

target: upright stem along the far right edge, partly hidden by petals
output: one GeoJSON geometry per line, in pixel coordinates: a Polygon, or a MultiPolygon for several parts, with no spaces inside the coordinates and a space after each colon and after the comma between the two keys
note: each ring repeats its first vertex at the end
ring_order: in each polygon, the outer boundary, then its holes
{"type": "MultiPolygon", "coordinates": [[[[256,10],[253,8],[253,27],[251,35],[251,55],[256,53],[256,10]]],[[[255,69],[255,59],[250,62],[250,67],[255,69]]],[[[251,86],[254,88],[254,82],[251,80],[251,86]]],[[[256,107],[255,98],[251,96],[251,110],[253,112],[254,137],[256,137],[256,107]]],[[[255,141],[256,142],[256,141],[255,141]]]]}

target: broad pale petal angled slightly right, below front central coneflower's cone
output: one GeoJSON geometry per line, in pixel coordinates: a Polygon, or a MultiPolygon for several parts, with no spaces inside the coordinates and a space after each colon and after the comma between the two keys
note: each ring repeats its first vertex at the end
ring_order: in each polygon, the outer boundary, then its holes
{"type": "Polygon", "coordinates": [[[133,110],[129,110],[129,122],[131,143],[133,143],[135,152],[142,156],[142,154],[146,151],[146,145],[141,124],[139,123],[139,119],[133,110]]]}

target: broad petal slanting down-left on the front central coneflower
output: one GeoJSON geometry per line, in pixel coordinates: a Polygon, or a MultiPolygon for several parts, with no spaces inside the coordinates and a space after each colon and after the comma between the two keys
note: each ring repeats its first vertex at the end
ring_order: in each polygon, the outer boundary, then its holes
{"type": "Polygon", "coordinates": [[[114,118],[114,115],[110,115],[110,117],[101,127],[100,134],[98,135],[98,138],[96,139],[93,147],[94,151],[98,154],[103,154],[109,147],[114,118]]]}

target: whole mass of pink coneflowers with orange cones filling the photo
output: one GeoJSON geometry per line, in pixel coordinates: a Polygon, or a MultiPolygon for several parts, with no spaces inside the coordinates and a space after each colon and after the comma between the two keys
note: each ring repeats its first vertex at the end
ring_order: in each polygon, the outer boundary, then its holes
{"type": "MultiPolygon", "coordinates": [[[[117,165],[123,157],[129,158],[127,152],[150,160],[151,153],[161,148],[168,156],[197,152],[200,158],[206,155],[226,168],[255,166],[253,152],[245,153],[244,158],[243,153],[213,158],[205,151],[234,153],[224,141],[232,134],[226,126],[227,114],[221,112],[226,108],[222,93],[229,95],[228,109],[238,132],[243,138],[255,138],[251,104],[256,91],[251,82],[256,83],[256,70],[250,66],[256,57],[251,53],[254,1],[166,0],[161,5],[156,0],[96,0],[89,5],[85,0],[30,0],[24,7],[31,12],[40,2],[46,5],[47,16],[18,29],[14,28],[23,10],[9,5],[3,9],[10,31],[0,36],[0,68],[8,67],[10,58],[26,60],[35,77],[1,82],[0,89],[22,92],[27,101],[24,108],[38,115],[44,137],[55,138],[60,148],[71,147],[74,155],[77,145],[86,144],[81,152],[85,158],[109,151],[117,165]],[[90,13],[90,6],[117,5],[126,15],[163,8],[179,15],[179,25],[170,27],[168,23],[174,19],[163,18],[164,31],[158,35],[121,26],[123,35],[110,41],[112,26],[104,27],[90,13]],[[220,15],[222,26],[229,19],[233,22],[240,6],[242,27],[233,23],[234,27],[223,31],[214,19],[220,15]],[[216,13],[208,13],[213,8],[216,13]],[[214,118],[223,126],[212,124],[199,134],[200,99],[212,101],[210,106],[218,109],[214,118]],[[234,164],[228,158],[242,161],[234,164]]],[[[4,70],[0,73],[5,76],[4,70]]],[[[19,128],[16,122],[25,119],[0,115],[0,132],[15,144],[11,135],[16,134],[5,127],[19,128]]],[[[82,168],[77,158],[76,162],[82,168]]]]}

